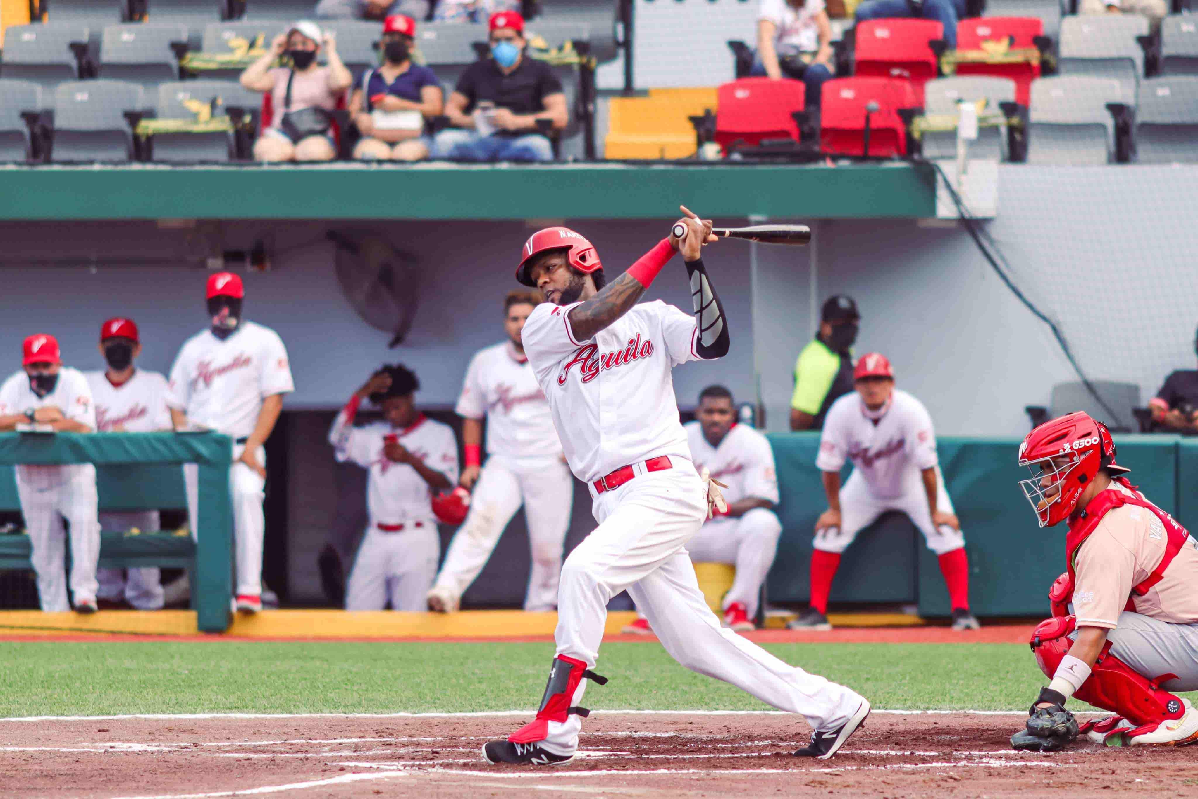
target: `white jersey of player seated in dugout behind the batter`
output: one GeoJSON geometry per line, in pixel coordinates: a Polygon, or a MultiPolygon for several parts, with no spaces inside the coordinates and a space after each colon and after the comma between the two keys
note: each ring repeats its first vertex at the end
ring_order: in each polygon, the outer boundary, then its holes
{"type": "Polygon", "coordinates": [[[707,467],[712,477],[728,488],[720,489],[730,503],[745,497],[779,502],[778,472],[774,468],[774,449],[766,436],[744,424],[733,424],[719,447],[713,447],[703,436],[703,425],[689,422],[686,440],[695,468],[707,467]]]}

